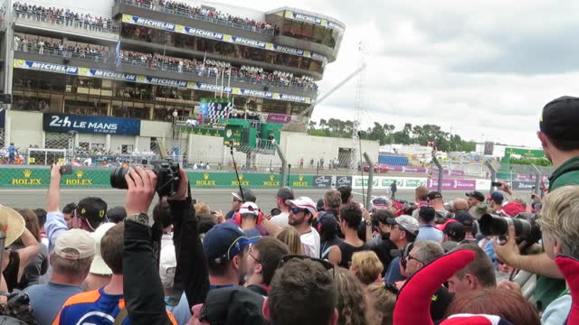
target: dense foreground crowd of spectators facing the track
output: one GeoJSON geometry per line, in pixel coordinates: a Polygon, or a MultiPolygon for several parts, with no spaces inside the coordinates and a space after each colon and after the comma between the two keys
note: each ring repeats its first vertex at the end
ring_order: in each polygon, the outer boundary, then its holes
{"type": "Polygon", "coordinates": [[[281,187],[275,207],[262,209],[261,197],[240,188],[223,214],[193,200],[183,169],[167,191],[157,186],[160,175],[137,167],[123,178],[124,207],[109,209],[98,197],[62,206],[56,164],[42,209],[0,207],[8,248],[0,291],[12,292],[0,295],[2,317],[26,324],[576,324],[578,111],[579,98],[569,97],[543,109],[537,135],[555,172],[546,196],[530,202],[506,182],[489,196],[470,191],[454,200],[420,186],[412,202],[375,198],[368,210],[349,187],[326,190],[318,202],[281,187]],[[489,218],[511,226],[490,231],[489,218]],[[536,237],[513,226],[523,220],[540,228],[536,237]],[[521,290],[522,271],[536,274],[533,292],[521,290]]]}

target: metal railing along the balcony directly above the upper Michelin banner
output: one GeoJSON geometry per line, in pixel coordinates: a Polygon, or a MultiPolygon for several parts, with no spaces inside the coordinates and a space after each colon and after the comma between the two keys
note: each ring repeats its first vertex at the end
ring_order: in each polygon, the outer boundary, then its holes
{"type": "Polygon", "coordinates": [[[228,20],[223,20],[223,19],[214,18],[214,17],[208,17],[208,16],[205,16],[203,14],[193,14],[193,13],[189,13],[189,12],[179,10],[179,9],[167,8],[165,5],[153,4],[151,1],[147,1],[147,0],[119,0],[119,4],[121,4],[121,5],[133,5],[133,6],[145,8],[145,9],[152,10],[152,11],[157,11],[160,13],[175,14],[175,15],[179,15],[179,16],[182,16],[185,18],[195,19],[197,21],[208,22],[208,23],[218,23],[218,24],[221,24],[223,26],[229,26],[229,27],[242,29],[242,30],[250,31],[250,32],[260,32],[260,33],[263,33],[266,35],[271,35],[271,36],[273,36],[275,33],[273,28],[262,28],[262,27],[258,27],[258,26],[253,26],[249,23],[233,23],[233,22],[230,22],[228,20]]]}

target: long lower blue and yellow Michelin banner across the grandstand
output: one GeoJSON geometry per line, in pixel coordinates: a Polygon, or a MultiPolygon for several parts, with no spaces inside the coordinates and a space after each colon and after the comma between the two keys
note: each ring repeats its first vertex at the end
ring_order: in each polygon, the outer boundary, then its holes
{"type": "Polygon", "coordinates": [[[252,96],[252,97],[259,97],[259,98],[270,98],[270,99],[275,99],[275,100],[284,100],[284,101],[291,101],[291,102],[304,103],[304,104],[311,104],[312,103],[311,98],[303,97],[303,96],[288,95],[288,94],[281,94],[281,93],[271,93],[269,91],[255,90],[255,89],[221,87],[221,86],[216,86],[216,85],[204,84],[202,82],[185,81],[185,80],[179,80],[179,79],[166,79],[166,78],[158,78],[158,77],[143,76],[143,75],[134,75],[134,74],[129,74],[129,73],[82,68],[82,67],[72,67],[72,66],[65,66],[65,65],[60,65],[60,64],[36,62],[36,61],[31,61],[31,60],[14,59],[14,68],[15,69],[24,69],[24,70],[46,71],[46,72],[53,72],[53,73],[63,73],[63,74],[69,74],[69,75],[79,75],[79,76],[90,77],[90,78],[129,81],[129,82],[136,82],[136,83],[141,83],[141,84],[166,86],[166,87],[174,87],[174,88],[204,90],[204,91],[215,91],[215,90],[221,91],[221,89],[223,88],[223,92],[226,94],[252,96]]]}

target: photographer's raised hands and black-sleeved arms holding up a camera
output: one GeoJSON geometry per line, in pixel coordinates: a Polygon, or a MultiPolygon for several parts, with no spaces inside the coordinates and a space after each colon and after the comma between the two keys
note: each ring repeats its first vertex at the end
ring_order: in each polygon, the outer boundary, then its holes
{"type": "MultiPolygon", "coordinates": [[[[168,324],[164,292],[157,272],[152,242],[160,240],[158,226],[148,227],[147,210],[155,196],[157,176],[141,168],[125,176],[128,183],[123,266],[125,300],[132,323],[168,324]],[[145,283],[145,284],[144,284],[145,283]]],[[[209,290],[209,277],[201,241],[197,235],[195,211],[188,195],[188,179],[179,170],[175,195],[167,198],[174,225],[177,267],[174,289],[185,290],[189,307],[203,303],[209,290]]]]}

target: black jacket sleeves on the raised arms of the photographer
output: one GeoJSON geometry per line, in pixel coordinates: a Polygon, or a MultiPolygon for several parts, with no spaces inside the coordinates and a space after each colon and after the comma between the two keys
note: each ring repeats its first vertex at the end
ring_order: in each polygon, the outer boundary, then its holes
{"type": "MultiPolygon", "coordinates": [[[[197,236],[195,211],[191,200],[169,201],[174,225],[176,275],[174,289],[185,290],[189,308],[203,303],[209,291],[209,277],[203,246],[197,236]]],[[[162,231],[125,221],[123,251],[124,296],[132,324],[170,324],[166,314],[165,294],[158,274],[155,252],[162,231]]],[[[157,256],[158,257],[158,256],[157,256]]]]}

